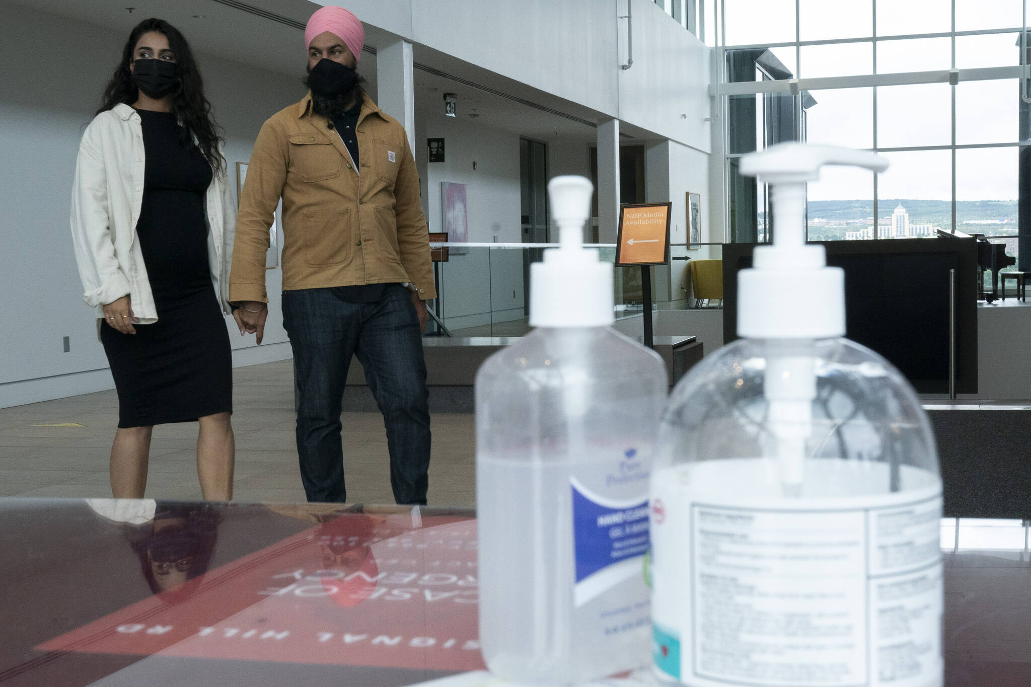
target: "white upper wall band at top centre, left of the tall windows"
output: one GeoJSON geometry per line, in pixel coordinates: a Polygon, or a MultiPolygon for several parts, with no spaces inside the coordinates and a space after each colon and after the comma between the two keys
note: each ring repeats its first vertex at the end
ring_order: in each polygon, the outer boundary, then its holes
{"type": "Polygon", "coordinates": [[[347,8],[367,26],[710,149],[710,49],[652,0],[351,0],[347,8]],[[634,64],[622,70],[628,27],[620,16],[628,6],[634,64]]]}

